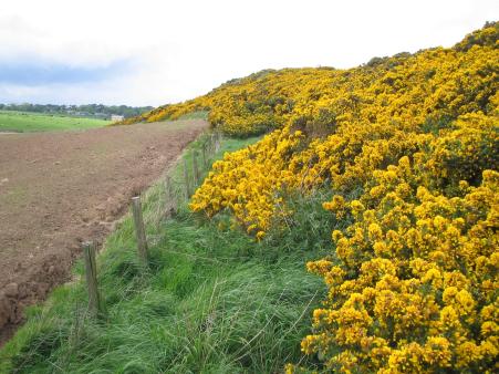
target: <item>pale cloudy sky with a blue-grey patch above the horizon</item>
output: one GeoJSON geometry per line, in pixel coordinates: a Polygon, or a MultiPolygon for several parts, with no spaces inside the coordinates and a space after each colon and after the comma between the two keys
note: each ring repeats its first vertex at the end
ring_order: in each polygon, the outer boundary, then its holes
{"type": "Polygon", "coordinates": [[[163,105],[262,69],[451,46],[497,0],[0,0],[0,103],[163,105]]]}

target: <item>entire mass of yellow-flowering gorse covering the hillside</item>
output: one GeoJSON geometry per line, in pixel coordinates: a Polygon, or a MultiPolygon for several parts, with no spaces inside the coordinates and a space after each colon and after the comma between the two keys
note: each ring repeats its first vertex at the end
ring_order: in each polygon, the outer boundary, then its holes
{"type": "Polygon", "coordinates": [[[451,49],[263,71],[134,120],[209,110],[229,135],[273,129],[216,163],[190,204],[258,240],[300,231],[290,201],[332,189],[331,254],[308,263],[329,297],[302,341],[325,367],[493,371],[498,34],[488,23],[451,49]]]}

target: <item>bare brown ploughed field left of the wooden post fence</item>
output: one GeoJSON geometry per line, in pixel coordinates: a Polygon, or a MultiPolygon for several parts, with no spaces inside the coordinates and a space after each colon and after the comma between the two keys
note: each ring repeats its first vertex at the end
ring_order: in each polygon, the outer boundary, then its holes
{"type": "Polygon", "coordinates": [[[0,136],[0,345],[207,124],[0,136]]]}

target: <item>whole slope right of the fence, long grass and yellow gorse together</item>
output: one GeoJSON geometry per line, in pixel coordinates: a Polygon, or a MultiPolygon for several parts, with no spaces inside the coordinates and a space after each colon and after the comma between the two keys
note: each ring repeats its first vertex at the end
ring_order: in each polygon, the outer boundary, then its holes
{"type": "Polygon", "coordinates": [[[102,321],[67,284],[6,367],[497,372],[498,37],[492,22],[449,49],[262,71],[122,122],[209,112],[227,152],[189,209],[148,224],[146,273],[129,217],[108,239],[102,321]]]}

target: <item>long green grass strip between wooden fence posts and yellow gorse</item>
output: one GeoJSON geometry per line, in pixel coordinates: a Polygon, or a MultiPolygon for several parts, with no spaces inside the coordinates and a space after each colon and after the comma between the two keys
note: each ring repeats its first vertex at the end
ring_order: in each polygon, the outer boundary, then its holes
{"type": "MultiPolygon", "coordinates": [[[[199,149],[201,141],[190,148],[199,149]]],[[[217,157],[254,141],[225,139],[217,157]]],[[[171,176],[180,194],[181,168],[171,176]]],[[[325,287],[304,264],[329,252],[320,243],[330,237],[321,227],[331,215],[311,216],[309,231],[294,239],[280,240],[276,231],[256,242],[240,230],[219,229],[230,224],[225,214],[207,220],[184,204],[164,219],[164,198],[162,184],[143,197],[148,271],[137,262],[128,215],[97,259],[105,314],[89,316],[83,266],[76,263],[75,281],[28,310],[28,322],[0,351],[1,373],[274,373],[288,362],[313,367],[300,341],[325,287]]]]}

